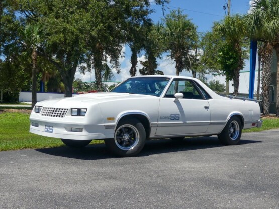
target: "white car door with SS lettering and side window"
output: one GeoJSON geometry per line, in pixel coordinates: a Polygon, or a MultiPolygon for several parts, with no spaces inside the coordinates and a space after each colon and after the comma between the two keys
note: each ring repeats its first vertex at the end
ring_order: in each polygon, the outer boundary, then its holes
{"type": "Polygon", "coordinates": [[[194,81],[174,79],[160,99],[156,136],[206,133],[210,123],[210,107],[194,81]],[[174,94],[183,98],[175,101],[174,94]]]}

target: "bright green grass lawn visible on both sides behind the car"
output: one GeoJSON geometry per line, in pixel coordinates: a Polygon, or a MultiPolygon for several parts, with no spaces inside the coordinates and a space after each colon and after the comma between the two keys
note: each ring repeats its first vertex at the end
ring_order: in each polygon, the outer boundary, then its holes
{"type": "MultiPolygon", "coordinates": [[[[0,151],[17,149],[36,149],[64,146],[60,139],[49,138],[29,133],[30,110],[13,108],[10,110],[0,108],[0,151]]],[[[263,131],[279,128],[279,118],[263,118],[261,128],[252,128],[243,132],[263,131]]],[[[91,143],[99,144],[103,141],[93,140],[91,143]]]]}

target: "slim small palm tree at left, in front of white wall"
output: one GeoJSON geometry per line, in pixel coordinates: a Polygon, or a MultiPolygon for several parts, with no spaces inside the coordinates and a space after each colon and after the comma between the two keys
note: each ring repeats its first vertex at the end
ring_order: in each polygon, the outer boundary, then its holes
{"type": "Polygon", "coordinates": [[[37,48],[41,42],[41,37],[39,34],[39,26],[27,24],[23,30],[21,30],[21,34],[24,40],[24,46],[27,50],[31,49],[32,54],[32,108],[35,106],[37,102],[37,59],[38,52],[37,48]]]}

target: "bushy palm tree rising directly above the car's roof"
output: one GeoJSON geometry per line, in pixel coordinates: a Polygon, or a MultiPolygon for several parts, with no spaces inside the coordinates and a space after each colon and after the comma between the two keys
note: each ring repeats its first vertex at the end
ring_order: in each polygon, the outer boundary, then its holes
{"type": "Polygon", "coordinates": [[[187,55],[198,39],[197,27],[183,15],[180,9],[173,10],[165,17],[165,48],[175,61],[176,75],[187,69],[187,55]]]}

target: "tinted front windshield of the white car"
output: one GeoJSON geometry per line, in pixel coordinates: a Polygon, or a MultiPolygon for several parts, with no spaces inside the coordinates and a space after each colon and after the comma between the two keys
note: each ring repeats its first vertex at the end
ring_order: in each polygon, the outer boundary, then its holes
{"type": "Polygon", "coordinates": [[[165,77],[133,77],[116,86],[110,92],[145,94],[161,96],[170,78],[165,77]]]}

